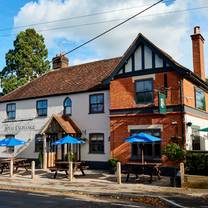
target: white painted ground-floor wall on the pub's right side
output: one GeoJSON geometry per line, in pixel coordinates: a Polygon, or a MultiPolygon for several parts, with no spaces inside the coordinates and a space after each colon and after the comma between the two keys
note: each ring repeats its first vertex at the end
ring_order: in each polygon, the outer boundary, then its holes
{"type": "MultiPolygon", "coordinates": [[[[199,126],[200,129],[208,127],[208,120],[194,117],[185,114],[185,123],[191,122],[193,126],[199,126]]],[[[192,150],[192,128],[186,125],[186,149],[192,150]]],[[[200,132],[202,139],[200,140],[200,146],[202,151],[208,151],[208,133],[200,132]]]]}

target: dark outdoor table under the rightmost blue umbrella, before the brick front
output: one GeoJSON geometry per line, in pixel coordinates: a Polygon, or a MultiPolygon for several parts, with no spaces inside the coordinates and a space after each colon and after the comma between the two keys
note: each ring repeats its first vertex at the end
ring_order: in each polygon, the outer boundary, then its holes
{"type": "Polygon", "coordinates": [[[154,172],[156,173],[158,178],[160,178],[159,167],[161,165],[162,165],[161,163],[137,163],[137,162],[126,163],[127,166],[126,182],[128,182],[131,173],[135,174],[136,178],[138,178],[139,174],[144,174],[145,172],[147,172],[147,174],[150,176],[149,182],[152,183],[152,176],[154,172]]]}

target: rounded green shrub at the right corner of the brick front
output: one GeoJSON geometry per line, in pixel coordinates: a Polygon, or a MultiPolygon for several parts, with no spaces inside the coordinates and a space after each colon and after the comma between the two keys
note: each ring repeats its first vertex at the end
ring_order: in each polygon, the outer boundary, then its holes
{"type": "Polygon", "coordinates": [[[170,161],[180,162],[184,160],[185,151],[176,143],[168,144],[164,150],[163,154],[168,157],[170,161]]]}

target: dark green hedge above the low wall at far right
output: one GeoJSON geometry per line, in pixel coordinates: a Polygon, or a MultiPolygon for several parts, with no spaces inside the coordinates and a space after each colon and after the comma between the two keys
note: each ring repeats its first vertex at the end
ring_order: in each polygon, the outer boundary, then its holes
{"type": "Polygon", "coordinates": [[[185,167],[187,174],[208,176],[208,153],[187,152],[185,167]]]}

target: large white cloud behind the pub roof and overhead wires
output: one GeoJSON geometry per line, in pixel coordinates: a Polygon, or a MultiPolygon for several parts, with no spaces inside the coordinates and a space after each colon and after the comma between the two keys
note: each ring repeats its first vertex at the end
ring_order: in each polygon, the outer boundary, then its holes
{"type": "MultiPolygon", "coordinates": [[[[202,0],[201,0],[202,1],[202,0]]],[[[105,21],[112,19],[124,19],[132,14],[145,8],[145,6],[152,4],[155,0],[149,0],[148,4],[145,0],[39,0],[38,2],[29,2],[24,5],[14,18],[14,26],[28,25],[36,22],[53,21],[57,19],[65,19],[73,16],[80,16],[84,14],[96,13],[98,11],[116,10],[121,8],[132,8],[129,10],[122,10],[120,12],[105,13],[99,16],[91,16],[81,19],[73,19],[71,21],[54,22],[35,26],[37,30],[47,30],[56,27],[65,27],[60,30],[42,31],[46,39],[47,46],[57,50],[57,53],[66,51],[67,48],[73,48],[75,45],[92,38],[93,36],[105,31],[109,27],[115,25],[117,22],[97,24],[91,26],[67,28],[71,25],[79,25],[90,22],[105,21]],[[140,8],[138,8],[140,7],[140,8]],[[65,44],[57,44],[57,40],[64,40],[65,44]]],[[[94,57],[108,58],[120,56],[128,48],[139,32],[142,32],[147,38],[153,41],[158,47],[167,51],[176,60],[185,63],[184,59],[186,53],[181,53],[184,49],[184,44],[190,41],[188,34],[188,14],[175,13],[165,14],[175,10],[186,9],[188,0],[176,0],[169,6],[164,3],[152,8],[144,16],[135,18],[126,23],[120,28],[105,35],[99,40],[90,43],[85,47],[85,56],[90,49],[91,53],[94,51],[94,57]],[[155,15],[155,13],[162,13],[155,15]],[[183,45],[183,46],[182,46],[183,45]]],[[[81,50],[83,52],[83,50],[81,50]]],[[[81,57],[81,56],[80,56],[81,57]]],[[[80,59],[79,51],[72,63],[80,63],[82,60],[92,59],[85,57],[80,59]]],[[[83,56],[82,56],[83,57],[83,56]]],[[[69,57],[70,58],[70,57],[69,57]]],[[[191,60],[191,57],[188,57],[191,60]]],[[[71,60],[71,58],[70,58],[71,60]]]]}

